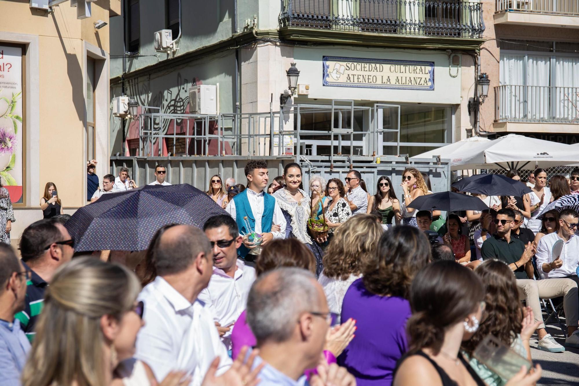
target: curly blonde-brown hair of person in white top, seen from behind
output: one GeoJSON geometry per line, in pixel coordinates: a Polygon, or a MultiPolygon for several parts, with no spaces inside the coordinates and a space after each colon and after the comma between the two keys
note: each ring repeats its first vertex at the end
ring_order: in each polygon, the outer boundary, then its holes
{"type": "Polygon", "coordinates": [[[323,257],[324,276],[346,280],[361,275],[367,265],[376,267],[376,249],[382,225],[371,214],[357,214],[336,230],[323,257]],[[373,263],[373,264],[372,264],[373,263]]]}

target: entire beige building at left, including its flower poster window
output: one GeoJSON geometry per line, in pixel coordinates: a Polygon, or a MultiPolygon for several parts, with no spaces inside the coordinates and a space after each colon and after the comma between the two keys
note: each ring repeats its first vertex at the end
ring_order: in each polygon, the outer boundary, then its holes
{"type": "Polygon", "coordinates": [[[104,25],[120,0],[38,3],[0,1],[0,180],[14,206],[13,239],[42,219],[49,181],[66,213],[85,205],[86,162],[97,159],[102,176],[110,154],[104,25]]]}

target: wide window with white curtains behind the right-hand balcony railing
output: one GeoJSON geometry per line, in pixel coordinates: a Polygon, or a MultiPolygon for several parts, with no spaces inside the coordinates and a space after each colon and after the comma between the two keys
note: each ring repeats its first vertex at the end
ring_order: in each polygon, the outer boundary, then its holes
{"type": "Polygon", "coordinates": [[[566,48],[556,42],[501,42],[497,119],[542,122],[576,117],[579,55],[566,48]]]}

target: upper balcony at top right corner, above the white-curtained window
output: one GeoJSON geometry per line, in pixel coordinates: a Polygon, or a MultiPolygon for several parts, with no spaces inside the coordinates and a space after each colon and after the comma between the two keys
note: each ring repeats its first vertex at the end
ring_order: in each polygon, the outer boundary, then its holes
{"type": "Polygon", "coordinates": [[[577,0],[496,0],[494,24],[579,28],[577,0]]]}

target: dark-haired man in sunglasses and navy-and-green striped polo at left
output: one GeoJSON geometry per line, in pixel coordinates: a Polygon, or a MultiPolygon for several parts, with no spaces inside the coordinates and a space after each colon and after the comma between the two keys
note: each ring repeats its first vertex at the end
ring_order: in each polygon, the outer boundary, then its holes
{"type": "Polygon", "coordinates": [[[28,225],[20,238],[19,247],[24,268],[31,270],[31,278],[27,282],[24,311],[16,314],[16,318],[32,342],[46,286],[58,267],[71,260],[74,241],[62,224],[46,219],[28,225]]]}

